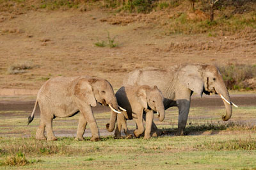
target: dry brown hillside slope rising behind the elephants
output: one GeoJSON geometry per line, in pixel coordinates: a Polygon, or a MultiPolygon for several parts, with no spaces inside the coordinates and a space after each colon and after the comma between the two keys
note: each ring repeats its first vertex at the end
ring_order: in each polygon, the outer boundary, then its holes
{"type": "Polygon", "coordinates": [[[127,72],[144,66],[256,63],[255,33],[166,35],[166,28],[150,24],[154,13],[113,17],[104,10],[37,10],[0,16],[0,89],[39,89],[58,75],[102,77],[118,89],[127,72]],[[96,47],[108,41],[108,33],[118,47],[96,47]],[[10,73],[22,64],[28,69],[10,73]]]}

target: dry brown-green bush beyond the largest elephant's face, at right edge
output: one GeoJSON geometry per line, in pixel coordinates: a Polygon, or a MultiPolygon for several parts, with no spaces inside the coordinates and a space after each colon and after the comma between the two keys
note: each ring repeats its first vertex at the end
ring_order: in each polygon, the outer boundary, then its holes
{"type": "Polygon", "coordinates": [[[250,84],[246,81],[256,78],[256,65],[218,66],[228,89],[255,89],[256,81],[250,84]]]}

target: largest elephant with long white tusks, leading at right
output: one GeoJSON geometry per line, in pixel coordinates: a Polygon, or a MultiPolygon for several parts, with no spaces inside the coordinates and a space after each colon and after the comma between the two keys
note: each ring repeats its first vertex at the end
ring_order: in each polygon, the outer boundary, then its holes
{"type": "MultiPolygon", "coordinates": [[[[193,92],[202,97],[203,93],[218,94],[222,98],[226,114],[223,121],[230,119],[232,105],[220,70],[213,65],[178,65],[167,69],[143,68],[130,72],[124,79],[124,84],[157,86],[164,96],[164,109],[177,106],[179,121],[177,135],[183,135],[193,92]]],[[[237,107],[237,106],[236,106],[237,107]]],[[[156,125],[152,125],[157,130],[156,125]]]]}

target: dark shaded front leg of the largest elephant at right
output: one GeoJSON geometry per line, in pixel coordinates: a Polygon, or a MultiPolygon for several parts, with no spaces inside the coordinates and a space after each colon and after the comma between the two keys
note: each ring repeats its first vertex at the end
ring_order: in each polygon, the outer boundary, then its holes
{"type": "Polygon", "coordinates": [[[188,113],[190,107],[189,100],[177,100],[177,106],[179,108],[179,121],[177,135],[184,135],[184,130],[188,120],[188,113]]]}

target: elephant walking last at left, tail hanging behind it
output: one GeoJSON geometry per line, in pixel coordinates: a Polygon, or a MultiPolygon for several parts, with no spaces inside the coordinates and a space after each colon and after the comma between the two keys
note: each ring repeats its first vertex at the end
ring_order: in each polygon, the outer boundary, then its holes
{"type": "Polygon", "coordinates": [[[52,120],[56,117],[72,117],[81,112],[75,139],[84,140],[83,134],[88,123],[92,132],[90,140],[99,141],[99,129],[92,112],[96,102],[108,105],[111,110],[118,112],[115,93],[106,79],[89,76],[51,78],[38,91],[33,112],[28,117],[28,125],[33,121],[36,105],[39,104],[40,125],[36,130],[36,139],[46,139],[46,128],[47,141],[55,141],[57,138],[52,131],[52,120]]]}

